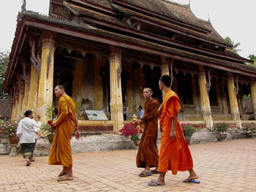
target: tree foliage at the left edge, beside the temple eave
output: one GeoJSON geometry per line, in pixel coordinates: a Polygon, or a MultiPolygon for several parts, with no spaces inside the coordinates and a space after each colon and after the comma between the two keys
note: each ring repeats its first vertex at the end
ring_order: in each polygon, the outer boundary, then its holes
{"type": "Polygon", "coordinates": [[[3,92],[4,77],[9,62],[10,53],[7,51],[0,53],[0,99],[8,99],[8,94],[3,92]]]}

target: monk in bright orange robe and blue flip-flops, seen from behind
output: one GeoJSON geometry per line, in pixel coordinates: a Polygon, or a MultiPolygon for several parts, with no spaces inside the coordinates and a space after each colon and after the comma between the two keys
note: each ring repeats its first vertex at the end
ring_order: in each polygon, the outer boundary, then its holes
{"type": "Polygon", "coordinates": [[[178,122],[178,111],[181,110],[180,101],[176,93],[170,90],[170,82],[170,76],[160,77],[159,88],[164,93],[164,101],[159,107],[162,129],[158,165],[160,174],[157,180],[147,183],[149,186],[165,185],[165,173],[168,170],[171,170],[173,174],[177,174],[178,171],[189,171],[189,177],[183,182],[200,183],[196,180],[198,177],[193,170],[192,156],[178,122]]]}

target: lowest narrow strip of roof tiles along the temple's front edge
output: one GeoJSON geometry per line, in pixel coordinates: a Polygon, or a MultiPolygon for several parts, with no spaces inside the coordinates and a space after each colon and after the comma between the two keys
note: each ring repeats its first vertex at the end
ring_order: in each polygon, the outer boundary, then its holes
{"type": "Polygon", "coordinates": [[[211,64],[217,64],[219,66],[228,66],[231,69],[238,69],[238,70],[243,70],[244,72],[256,73],[256,67],[254,67],[254,66],[248,66],[245,64],[238,64],[238,63],[234,63],[234,62],[230,62],[230,61],[223,61],[222,59],[198,55],[196,53],[191,53],[191,52],[187,52],[184,50],[178,50],[173,47],[167,47],[165,45],[158,45],[154,42],[147,42],[145,40],[124,36],[121,34],[115,34],[113,32],[105,31],[105,30],[95,28],[92,26],[88,26],[86,24],[80,24],[80,23],[74,23],[74,22],[72,23],[72,22],[69,22],[68,20],[60,20],[58,18],[51,18],[51,17],[47,17],[44,15],[39,15],[38,13],[34,13],[34,12],[23,13],[23,17],[26,17],[26,16],[29,16],[31,18],[36,18],[37,20],[41,20],[45,23],[54,23],[58,26],[65,26],[67,28],[73,28],[75,30],[85,31],[85,32],[88,32],[89,34],[95,34],[99,37],[105,37],[107,39],[115,39],[115,40],[118,40],[119,42],[124,42],[124,45],[125,45],[125,43],[127,43],[127,44],[133,43],[135,45],[150,47],[151,49],[159,50],[161,52],[171,53],[173,55],[180,55],[180,56],[184,56],[186,58],[192,58],[197,61],[206,62],[208,64],[211,63],[211,64]]]}

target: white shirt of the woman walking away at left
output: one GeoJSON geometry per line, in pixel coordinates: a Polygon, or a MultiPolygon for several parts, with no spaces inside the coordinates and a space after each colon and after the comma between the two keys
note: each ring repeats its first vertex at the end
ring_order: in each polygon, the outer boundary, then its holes
{"type": "Polygon", "coordinates": [[[20,143],[34,143],[35,132],[38,131],[39,123],[31,118],[23,118],[20,120],[17,129],[17,136],[20,137],[20,143]]]}

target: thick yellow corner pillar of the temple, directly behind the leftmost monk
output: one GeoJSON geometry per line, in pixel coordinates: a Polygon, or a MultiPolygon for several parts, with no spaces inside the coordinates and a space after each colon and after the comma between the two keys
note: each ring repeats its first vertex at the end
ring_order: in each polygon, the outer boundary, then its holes
{"type": "Polygon", "coordinates": [[[41,120],[47,120],[46,107],[53,105],[53,65],[54,65],[53,33],[45,31],[42,35],[41,68],[37,96],[37,114],[41,120]]]}

